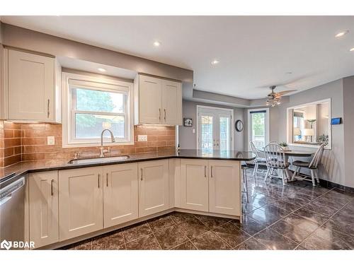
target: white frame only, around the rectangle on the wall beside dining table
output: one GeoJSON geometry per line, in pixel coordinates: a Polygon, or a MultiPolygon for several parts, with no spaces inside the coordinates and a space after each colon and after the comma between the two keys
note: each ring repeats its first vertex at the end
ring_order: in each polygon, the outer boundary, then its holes
{"type": "Polygon", "coordinates": [[[288,146],[299,146],[299,147],[306,147],[306,148],[318,148],[319,146],[314,146],[312,144],[305,144],[305,143],[291,143],[292,139],[292,117],[291,117],[291,110],[294,110],[298,107],[304,107],[308,105],[317,105],[321,103],[329,103],[329,143],[327,146],[325,146],[325,149],[332,149],[332,127],[331,127],[331,117],[332,117],[332,112],[331,112],[331,107],[332,107],[332,100],[331,98],[326,98],[324,100],[317,100],[313,102],[307,102],[301,105],[296,105],[292,107],[287,107],[287,145],[288,146]],[[290,124],[290,119],[291,119],[291,124],[290,124]],[[290,127],[291,126],[291,127],[290,127]]]}

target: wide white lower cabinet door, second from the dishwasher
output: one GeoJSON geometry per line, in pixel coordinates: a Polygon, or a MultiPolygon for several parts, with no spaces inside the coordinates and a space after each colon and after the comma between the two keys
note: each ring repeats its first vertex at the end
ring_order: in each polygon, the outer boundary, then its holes
{"type": "Polygon", "coordinates": [[[102,167],[59,171],[59,240],[102,228],[102,167]]]}

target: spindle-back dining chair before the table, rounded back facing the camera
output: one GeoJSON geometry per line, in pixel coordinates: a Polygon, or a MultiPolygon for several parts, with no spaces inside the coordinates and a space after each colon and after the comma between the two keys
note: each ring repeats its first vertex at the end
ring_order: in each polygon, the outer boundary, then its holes
{"type": "MultiPolygon", "coordinates": [[[[265,165],[267,166],[267,174],[265,174],[264,181],[268,177],[272,177],[273,170],[277,170],[281,174],[282,184],[287,181],[286,170],[289,163],[285,163],[285,153],[281,146],[275,143],[270,143],[264,148],[265,165]]],[[[278,177],[275,176],[274,177],[278,177]]]]}

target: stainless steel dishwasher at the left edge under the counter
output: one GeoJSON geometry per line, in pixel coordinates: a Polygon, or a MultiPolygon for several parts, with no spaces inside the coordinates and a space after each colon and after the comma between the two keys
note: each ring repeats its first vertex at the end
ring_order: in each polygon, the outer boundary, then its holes
{"type": "Polygon", "coordinates": [[[13,177],[0,182],[0,242],[25,240],[26,179],[13,177]]]}

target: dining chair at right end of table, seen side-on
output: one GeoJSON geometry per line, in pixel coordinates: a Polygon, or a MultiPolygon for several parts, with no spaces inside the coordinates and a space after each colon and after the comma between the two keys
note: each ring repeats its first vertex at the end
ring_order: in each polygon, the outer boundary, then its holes
{"type": "MultiPolygon", "coordinates": [[[[311,162],[296,160],[292,163],[292,165],[294,165],[296,168],[295,168],[294,173],[292,174],[291,180],[295,180],[295,177],[297,177],[297,175],[299,176],[299,172],[301,170],[301,167],[307,167],[311,171],[312,186],[316,186],[316,180],[317,180],[317,183],[319,183],[318,170],[319,170],[319,163],[321,162],[322,154],[324,153],[324,146],[325,146],[324,143],[322,143],[321,146],[319,146],[316,153],[314,153],[314,156],[313,156],[311,162]]],[[[300,179],[309,180],[307,177],[301,177],[300,179]]]]}

